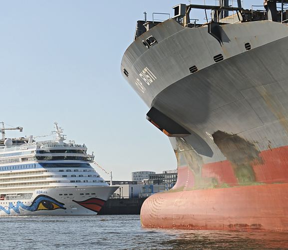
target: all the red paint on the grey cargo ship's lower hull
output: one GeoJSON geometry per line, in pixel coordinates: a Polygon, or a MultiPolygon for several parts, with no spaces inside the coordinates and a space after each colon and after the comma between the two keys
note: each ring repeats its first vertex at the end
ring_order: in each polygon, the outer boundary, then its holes
{"type": "Polygon", "coordinates": [[[179,166],[175,187],[145,200],[142,226],[287,232],[288,146],[263,151],[261,157],[252,165],[253,183],[239,183],[227,160],[204,164],[203,189],[196,187],[193,169],[179,166]],[[211,178],[217,180],[214,188],[205,187],[211,178]]]}

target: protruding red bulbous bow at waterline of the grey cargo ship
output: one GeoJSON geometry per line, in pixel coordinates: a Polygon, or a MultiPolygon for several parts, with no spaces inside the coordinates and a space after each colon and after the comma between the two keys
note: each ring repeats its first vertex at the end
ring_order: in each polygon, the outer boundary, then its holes
{"type": "Polygon", "coordinates": [[[288,183],[157,193],[143,227],[288,231],[288,183]]]}

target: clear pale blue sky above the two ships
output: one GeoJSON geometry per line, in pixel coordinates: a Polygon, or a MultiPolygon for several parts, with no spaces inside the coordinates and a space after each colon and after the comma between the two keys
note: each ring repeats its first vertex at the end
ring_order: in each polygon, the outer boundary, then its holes
{"type": "Polygon", "coordinates": [[[175,169],[168,137],[145,119],[149,108],[122,77],[120,62],[143,12],[148,19],[152,12],[172,16],[178,3],[1,1],[0,121],[24,127],[7,136],[49,134],[58,121],[67,138],[85,143],[115,180],[130,179],[131,171],[175,169]]]}

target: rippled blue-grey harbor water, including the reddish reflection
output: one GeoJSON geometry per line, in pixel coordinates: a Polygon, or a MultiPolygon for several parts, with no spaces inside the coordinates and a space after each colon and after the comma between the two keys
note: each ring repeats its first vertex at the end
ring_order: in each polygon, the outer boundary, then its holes
{"type": "Polygon", "coordinates": [[[143,229],[139,215],[0,217],[1,249],[288,249],[288,233],[143,229]]]}

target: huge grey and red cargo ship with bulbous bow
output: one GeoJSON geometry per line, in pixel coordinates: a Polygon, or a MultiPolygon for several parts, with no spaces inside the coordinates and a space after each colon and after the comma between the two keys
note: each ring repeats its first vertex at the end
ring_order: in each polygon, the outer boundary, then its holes
{"type": "Polygon", "coordinates": [[[287,232],[288,0],[173,8],[137,21],[121,62],[178,162],[142,226],[287,232]]]}

